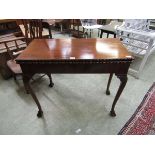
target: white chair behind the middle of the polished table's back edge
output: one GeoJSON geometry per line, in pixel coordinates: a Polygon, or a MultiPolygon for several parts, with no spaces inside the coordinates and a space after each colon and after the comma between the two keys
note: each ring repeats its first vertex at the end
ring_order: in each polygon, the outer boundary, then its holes
{"type": "Polygon", "coordinates": [[[91,38],[91,33],[94,29],[99,29],[102,27],[102,25],[97,23],[97,19],[80,19],[82,27],[85,30],[85,33],[87,36],[91,38]],[[88,31],[90,31],[88,35],[88,31]]]}

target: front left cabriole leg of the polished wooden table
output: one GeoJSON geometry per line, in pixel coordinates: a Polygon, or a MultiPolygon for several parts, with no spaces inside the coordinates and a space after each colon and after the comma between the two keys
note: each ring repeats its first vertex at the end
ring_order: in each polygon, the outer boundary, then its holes
{"type": "Polygon", "coordinates": [[[30,83],[29,83],[31,77],[32,77],[32,75],[29,75],[29,76],[23,75],[24,86],[26,86],[26,89],[28,89],[28,92],[31,94],[32,98],[34,99],[34,101],[35,101],[35,103],[36,103],[36,105],[37,105],[37,107],[38,107],[38,109],[39,109],[37,116],[38,116],[38,117],[42,117],[42,115],[43,115],[43,110],[42,110],[42,108],[41,108],[41,105],[40,105],[40,103],[39,103],[39,101],[38,101],[38,99],[37,99],[37,97],[36,97],[34,91],[32,90],[32,88],[31,88],[31,86],[30,86],[30,83]]]}

